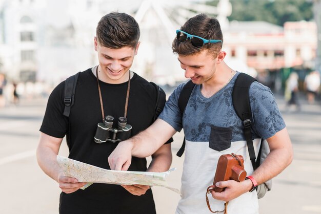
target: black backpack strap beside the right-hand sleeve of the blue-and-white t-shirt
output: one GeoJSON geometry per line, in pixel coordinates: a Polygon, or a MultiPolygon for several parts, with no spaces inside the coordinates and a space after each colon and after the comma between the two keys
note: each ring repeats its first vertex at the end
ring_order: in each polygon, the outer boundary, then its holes
{"type": "Polygon", "coordinates": [[[237,79],[234,84],[232,92],[232,102],[236,114],[243,121],[246,143],[249,149],[249,155],[253,165],[253,169],[255,170],[257,168],[257,164],[255,162],[256,158],[251,134],[251,126],[253,121],[249,99],[250,85],[254,81],[256,81],[256,79],[251,77],[250,75],[240,73],[237,76],[237,79]]]}

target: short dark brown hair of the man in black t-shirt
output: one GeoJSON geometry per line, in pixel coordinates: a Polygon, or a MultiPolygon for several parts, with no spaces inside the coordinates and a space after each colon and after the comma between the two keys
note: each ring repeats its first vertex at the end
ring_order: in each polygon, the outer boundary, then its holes
{"type": "Polygon", "coordinates": [[[126,13],[109,13],[99,20],[96,28],[99,45],[111,49],[135,48],[140,35],[138,23],[126,13]]]}

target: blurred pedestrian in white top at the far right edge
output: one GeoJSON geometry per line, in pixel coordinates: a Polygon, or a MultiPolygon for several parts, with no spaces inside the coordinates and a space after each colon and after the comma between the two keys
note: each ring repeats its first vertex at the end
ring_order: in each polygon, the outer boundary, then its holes
{"type": "Polygon", "coordinates": [[[305,90],[309,104],[313,104],[315,97],[318,96],[320,90],[320,74],[317,71],[310,72],[304,80],[305,90]]]}

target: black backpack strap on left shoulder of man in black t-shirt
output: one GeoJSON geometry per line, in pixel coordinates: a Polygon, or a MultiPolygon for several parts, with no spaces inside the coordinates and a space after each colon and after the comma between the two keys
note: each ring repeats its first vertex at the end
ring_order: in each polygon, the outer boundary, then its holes
{"type": "Polygon", "coordinates": [[[64,96],[64,103],[65,103],[65,110],[64,115],[69,117],[71,106],[74,103],[75,98],[75,91],[76,91],[76,84],[78,76],[81,72],[76,73],[68,77],[65,81],[65,96],[64,96]]]}

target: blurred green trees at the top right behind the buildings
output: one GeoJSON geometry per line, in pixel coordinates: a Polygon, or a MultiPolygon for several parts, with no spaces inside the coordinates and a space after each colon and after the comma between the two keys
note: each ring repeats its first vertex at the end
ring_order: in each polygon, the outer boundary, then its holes
{"type": "MultiPolygon", "coordinates": [[[[317,1],[317,0],[316,0],[317,1]]],[[[309,0],[230,0],[232,14],[229,20],[263,20],[283,26],[285,22],[313,19],[312,5],[309,0]]],[[[216,6],[218,0],[207,4],[216,6]]]]}

